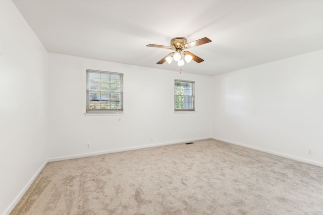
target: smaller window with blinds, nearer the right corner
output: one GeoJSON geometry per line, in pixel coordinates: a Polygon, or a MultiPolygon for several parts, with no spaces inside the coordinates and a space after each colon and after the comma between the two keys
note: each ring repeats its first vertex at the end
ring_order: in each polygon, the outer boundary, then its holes
{"type": "Polygon", "coordinates": [[[194,110],[194,82],[175,80],[175,111],[194,110]]]}

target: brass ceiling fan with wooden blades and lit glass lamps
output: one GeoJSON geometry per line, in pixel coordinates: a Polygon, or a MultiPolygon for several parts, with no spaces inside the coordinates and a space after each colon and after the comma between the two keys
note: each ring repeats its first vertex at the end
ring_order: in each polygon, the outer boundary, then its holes
{"type": "Polygon", "coordinates": [[[187,43],[187,39],[185,37],[175,37],[171,39],[171,46],[155,45],[155,44],[149,44],[146,46],[155,47],[155,48],[167,48],[175,51],[175,52],[169,53],[163,59],[159,60],[157,64],[163,64],[165,61],[167,61],[168,63],[171,63],[172,60],[174,59],[175,61],[177,61],[177,64],[179,66],[182,66],[184,65],[184,60],[182,58],[182,55],[184,55],[186,62],[190,62],[191,60],[194,60],[195,62],[200,63],[204,61],[202,58],[196,56],[195,54],[189,51],[183,51],[184,49],[203,45],[209,42],[212,42],[212,41],[207,37],[201,38],[199,40],[195,40],[190,43],[187,43]]]}

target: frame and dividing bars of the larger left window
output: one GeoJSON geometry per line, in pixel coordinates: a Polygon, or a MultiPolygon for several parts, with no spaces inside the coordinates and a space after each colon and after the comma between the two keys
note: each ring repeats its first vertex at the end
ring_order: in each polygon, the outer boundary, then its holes
{"type": "MultiPolygon", "coordinates": [[[[101,70],[94,70],[94,69],[86,69],[86,113],[123,113],[124,108],[123,108],[123,73],[113,73],[111,71],[101,71],[101,70]],[[96,74],[109,74],[109,75],[118,75],[120,76],[120,91],[116,91],[116,93],[120,94],[120,108],[119,109],[90,109],[90,90],[89,90],[89,74],[90,73],[96,73],[96,74]]],[[[106,79],[107,80],[107,79],[106,79]]],[[[109,81],[111,84],[111,76],[109,76],[109,81]]],[[[101,86],[101,77],[100,77],[100,86],[101,86]]],[[[111,87],[110,87],[111,88],[111,87]]],[[[100,104],[102,102],[101,100],[101,89],[100,89],[100,104]]],[[[110,102],[111,102],[111,92],[110,93],[110,102]]]]}

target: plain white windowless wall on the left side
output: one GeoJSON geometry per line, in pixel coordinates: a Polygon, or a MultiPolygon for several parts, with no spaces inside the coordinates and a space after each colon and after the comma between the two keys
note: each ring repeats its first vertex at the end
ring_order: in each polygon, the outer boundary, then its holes
{"type": "Polygon", "coordinates": [[[0,214],[47,160],[47,52],[10,0],[0,1],[0,214]]]}

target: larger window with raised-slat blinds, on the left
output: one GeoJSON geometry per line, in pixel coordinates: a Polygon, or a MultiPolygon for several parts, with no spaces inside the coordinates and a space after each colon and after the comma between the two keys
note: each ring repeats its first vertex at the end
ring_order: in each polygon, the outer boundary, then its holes
{"type": "Polygon", "coordinates": [[[86,69],[86,112],[123,112],[123,74],[86,69]]]}

